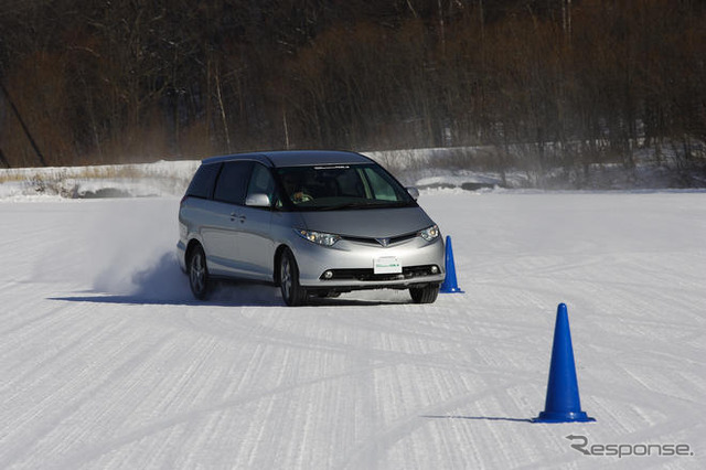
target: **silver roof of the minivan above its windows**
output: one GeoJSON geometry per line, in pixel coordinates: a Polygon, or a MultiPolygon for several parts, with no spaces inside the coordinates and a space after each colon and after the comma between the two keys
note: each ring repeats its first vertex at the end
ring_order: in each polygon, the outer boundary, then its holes
{"type": "Polygon", "coordinates": [[[234,153],[229,156],[210,157],[202,164],[232,160],[255,160],[269,167],[302,167],[309,164],[357,164],[371,163],[373,160],[355,152],[341,150],[277,150],[253,153],[234,153]]]}

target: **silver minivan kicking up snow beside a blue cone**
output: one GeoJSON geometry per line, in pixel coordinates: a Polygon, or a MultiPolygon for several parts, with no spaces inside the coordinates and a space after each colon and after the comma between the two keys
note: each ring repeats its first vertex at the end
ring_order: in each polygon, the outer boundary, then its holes
{"type": "Polygon", "coordinates": [[[278,285],[288,306],[381,288],[431,303],[443,241],[418,195],[360,153],[208,158],[181,201],[179,263],[197,299],[227,278],[278,285]]]}

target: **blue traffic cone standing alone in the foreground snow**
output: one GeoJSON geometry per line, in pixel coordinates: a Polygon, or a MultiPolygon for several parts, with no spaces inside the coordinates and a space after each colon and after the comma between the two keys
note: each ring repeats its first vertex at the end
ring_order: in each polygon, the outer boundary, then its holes
{"type": "Polygon", "coordinates": [[[559,303],[554,327],[554,345],[552,346],[552,365],[547,384],[547,400],[544,412],[533,419],[534,423],[586,423],[595,421],[581,412],[578,397],[576,364],[569,331],[569,317],[566,303],[559,303]]]}

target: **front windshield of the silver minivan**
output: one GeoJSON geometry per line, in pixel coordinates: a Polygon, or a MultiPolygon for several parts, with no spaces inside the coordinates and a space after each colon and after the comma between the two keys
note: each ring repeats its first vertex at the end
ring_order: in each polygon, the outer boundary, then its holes
{"type": "Polygon", "coordinates": [[[375,163],[282,167],[277,174],[282,197],[300,211],[416,205],[407,190],[375,163]]]}

